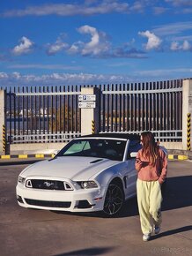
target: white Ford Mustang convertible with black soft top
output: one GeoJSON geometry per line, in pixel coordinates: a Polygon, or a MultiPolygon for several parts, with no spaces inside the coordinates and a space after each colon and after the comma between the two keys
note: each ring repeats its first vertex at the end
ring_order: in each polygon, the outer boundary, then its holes
{"type": "Polygon", "coordinates": [[[18,176],[21,207],[103,211],[115,215],[136,195],[135,161],[140,136],[99,133],[72,139],[53,159],[36,162],[18,176]]]}

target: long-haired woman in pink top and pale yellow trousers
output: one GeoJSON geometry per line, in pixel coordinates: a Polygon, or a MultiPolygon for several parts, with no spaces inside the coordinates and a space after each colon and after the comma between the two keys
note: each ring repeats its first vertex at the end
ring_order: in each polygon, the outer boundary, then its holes
{"type": "Polygon", "coordinates": [[[151,232],[158,234],[161,220],[161,184],[166,180],[166,154],[159,148],[151,132],[142,132],[142,149],[137,153],[137,203],[143,240],[148,241],[151,232]],[[151,223],[152,222],[152,223],[151,223]]]}

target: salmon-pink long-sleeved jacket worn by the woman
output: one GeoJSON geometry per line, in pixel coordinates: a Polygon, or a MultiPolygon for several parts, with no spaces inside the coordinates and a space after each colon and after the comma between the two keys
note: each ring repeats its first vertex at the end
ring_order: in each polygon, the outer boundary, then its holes
{"type": "Polygon", "coordinates": [[[166,154],[159,148],[159,156],[155,166],[152,166],[148,159],[142,156],[141,152],[142,149],[137,152],[136,169],[138,171],[138,179],[144,181],[158,180],[159,184],[162,184],[166,179],[167,172],[166,154]]]}

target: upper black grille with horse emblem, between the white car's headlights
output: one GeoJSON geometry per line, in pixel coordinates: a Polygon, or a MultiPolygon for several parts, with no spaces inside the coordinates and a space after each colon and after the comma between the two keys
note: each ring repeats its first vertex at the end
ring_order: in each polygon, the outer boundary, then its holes
{"type": "Polygon", "coordinates": [[[26,181],[26,187],[47,190],[65,190],[63,181],[58,180],[31,179],[26,181]]]}

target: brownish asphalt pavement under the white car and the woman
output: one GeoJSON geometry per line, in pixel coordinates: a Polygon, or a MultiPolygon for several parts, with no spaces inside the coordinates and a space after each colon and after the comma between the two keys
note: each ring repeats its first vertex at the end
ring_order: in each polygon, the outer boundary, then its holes
{"type": "Polygon", "coordinates": [[[192,162],[169,161],[163,223],[143,242],[137,199],[122,214],[104,218],[19,207],[15,186],[25,165],[0,166],[0,255],[192,255],[192,162]]]}

